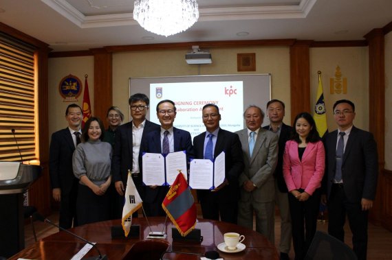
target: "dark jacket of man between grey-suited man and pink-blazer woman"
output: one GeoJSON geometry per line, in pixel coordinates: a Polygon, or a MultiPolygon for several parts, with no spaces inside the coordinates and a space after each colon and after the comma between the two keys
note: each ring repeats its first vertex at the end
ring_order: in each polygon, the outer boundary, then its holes
{"type": "MultiPolygon", "coordinates": [[[[269,129],[270,126],[264,126],[264,129],[269,129]]],[[[281,134],[279,134],[279,151],[278,151],[278,164],[276,165],[274,178],[278,182],[279,191],[287,193],[287,186],[285,178],[283,178],[283,154],[285,152],[285,145],[287,140],[290,139],[292,127],[287,126],[285,123],[282,124],[281,134]]]]}

